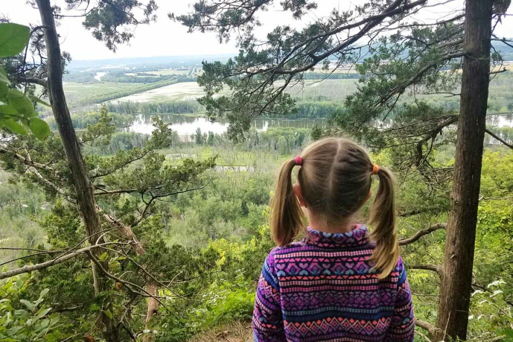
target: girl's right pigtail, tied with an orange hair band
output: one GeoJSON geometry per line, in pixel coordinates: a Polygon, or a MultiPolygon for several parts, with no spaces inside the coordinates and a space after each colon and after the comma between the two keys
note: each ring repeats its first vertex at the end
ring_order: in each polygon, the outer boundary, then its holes
{"type": "Polygon", "coordinates": [[[372,205],[369,223],[373,230],[370,238],[376,243],[371,260],[379,270],[379,278],[387,277],[397,265],[399,244],[397,242],[396,201],[394,198],[394,178],[385,168],[377,170],[379,187],[372,205]]]}

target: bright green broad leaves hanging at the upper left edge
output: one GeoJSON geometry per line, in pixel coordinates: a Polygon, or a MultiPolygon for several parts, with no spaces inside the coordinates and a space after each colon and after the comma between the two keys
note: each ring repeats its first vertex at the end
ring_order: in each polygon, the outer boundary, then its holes
{"type": "MultiPolygon", "coordinates": [[[[27,46],[30,29],[27,26],[0,23],[0,57],[15,56],[27,46]]],[[[17,89],[10,89],[11,82],[5,70],[0,67],[0,128],[25,135],[27,127],[37,138],[44,139],[50,133],[44,120],[37,117],[34,102],[45,104],[42,100],[32,100],[17,89]]]]}

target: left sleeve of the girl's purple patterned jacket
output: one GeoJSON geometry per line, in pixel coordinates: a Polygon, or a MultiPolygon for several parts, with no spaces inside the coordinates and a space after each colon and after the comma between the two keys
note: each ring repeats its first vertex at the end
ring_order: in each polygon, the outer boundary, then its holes
{"type": "Polygon", "coordinates": [[[272,251],[267,256],[260,275],[252,325],[255,342],[286,341],[280,304],[280,283],[274,268],[272,251]]]}

